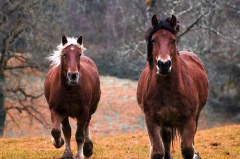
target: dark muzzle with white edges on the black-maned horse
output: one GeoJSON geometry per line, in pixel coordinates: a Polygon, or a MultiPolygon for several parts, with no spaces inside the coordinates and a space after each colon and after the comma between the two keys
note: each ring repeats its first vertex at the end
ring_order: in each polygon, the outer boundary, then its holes
{"type": "Polygon", "coordinates": [[[172,62],[171,60],[158,60],[157,61],[157,74],[166,76],[171,73],[172,70],[172,62]]]}

